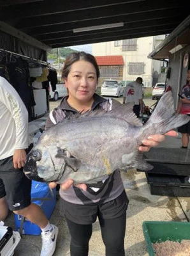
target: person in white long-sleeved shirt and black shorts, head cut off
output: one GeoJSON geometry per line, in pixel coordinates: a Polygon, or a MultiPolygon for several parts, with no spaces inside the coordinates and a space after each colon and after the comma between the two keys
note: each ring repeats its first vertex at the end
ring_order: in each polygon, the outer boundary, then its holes
{"type": "Polygon", "coordinates": [[[8,207],[38,225],[42,232],[40,256],[52,256],[58,228],[49,223],[39,205],[31,203],[31,180],[22,171],[28,148],[28,113],[17,91],[0,77],[0,221],[8,207]]]}

